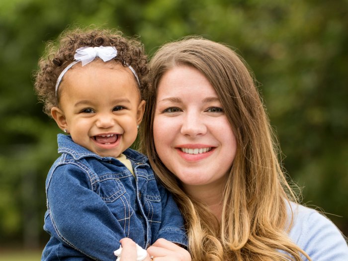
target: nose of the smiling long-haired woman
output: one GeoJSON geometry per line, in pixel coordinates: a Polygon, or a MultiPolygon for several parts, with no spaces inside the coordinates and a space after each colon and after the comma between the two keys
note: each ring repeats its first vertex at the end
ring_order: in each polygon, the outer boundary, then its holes
{"type": "Polygon", "coordinates": [[[186,112],[181,125],[181,134],[186,136],[204,135],[207,127],[198,112],[186,112]]]}

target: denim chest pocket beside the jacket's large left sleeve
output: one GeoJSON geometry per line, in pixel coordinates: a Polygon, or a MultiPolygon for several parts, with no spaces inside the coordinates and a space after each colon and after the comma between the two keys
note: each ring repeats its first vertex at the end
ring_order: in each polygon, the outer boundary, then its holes
{"type": "Polygon", "coordinates": [[[126,189],[121,181],[116,178],[106,178],[100,181],[99,196],[106,202],[112,203],[122,196],[126,189]]]}

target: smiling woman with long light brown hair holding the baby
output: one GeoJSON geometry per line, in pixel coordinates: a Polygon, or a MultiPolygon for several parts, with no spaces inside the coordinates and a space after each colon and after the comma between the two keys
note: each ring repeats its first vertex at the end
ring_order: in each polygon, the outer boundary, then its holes
{"type": "MultiPolygon", "coordinates": [[[[335,225],[296,203],[259,92],[235,52],[186,38],[157,51],[151,75],[142,151],[184,216],[192,260],[348,260],[335,225]]],[[[156,242],[148,253],[190,260],[175,247],[156,242]]]]}

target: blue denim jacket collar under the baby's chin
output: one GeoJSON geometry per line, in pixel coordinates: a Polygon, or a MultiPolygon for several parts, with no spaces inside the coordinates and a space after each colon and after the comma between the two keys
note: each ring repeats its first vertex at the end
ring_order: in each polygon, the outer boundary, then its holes
{"type": "MultiPolygon", "coordinates": [[[[95,154],[94,152],[87,150],[85,147],[82,147],[81,145],[76,144],[72,140],[71,136],[58,134],[57,140],[58,140],[58,153],[69,154],[71,157],[74,158],[74,160],[80,160],[86,157],[94,157],[101,161],[114,159],[113,157],[101,157],[95,154]]],[[[137,162],[141,162],[141,163],[148,162],[148,158],[145,155],[137,153],[133,151],[132,149],[125,150],[123,154],[126,155],[127,158],[130,158],[137,162]]]]}

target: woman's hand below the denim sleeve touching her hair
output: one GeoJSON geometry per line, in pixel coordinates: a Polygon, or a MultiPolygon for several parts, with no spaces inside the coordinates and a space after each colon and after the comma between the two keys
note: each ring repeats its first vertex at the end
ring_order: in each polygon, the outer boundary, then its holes
{"type": "Polygon", "coordinates": [[[188,251],[163,238],[158,239],[147,252],[153,257],[152,261],[191,261],[188,251]]]}

